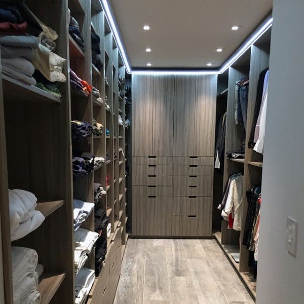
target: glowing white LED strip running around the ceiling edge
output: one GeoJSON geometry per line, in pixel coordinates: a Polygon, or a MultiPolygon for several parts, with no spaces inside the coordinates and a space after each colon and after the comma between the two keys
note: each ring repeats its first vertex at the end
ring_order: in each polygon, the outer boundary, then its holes
{"type": "Polygon", "coordinates": [[[119,51],[122,55],[124,64],[126,66],[127,72],[132,74],[145,74],[145,75],[214,75],[222,74],[227,68],[234,64],[269,28],[272,27],[273,18],[267,18],[245,41],[245,43],[234,53],[229,60],[227,60],[218,70],[132,70],[127,53],[125,51],[124,45],[121,40],[121,35],[116,25],[116,22],[112,16],[111,9],[109,7],[107,0],[101,0],[103,10],[105,12],[106,18],[114,35],[115,41],[118,45],[119,51]]]}

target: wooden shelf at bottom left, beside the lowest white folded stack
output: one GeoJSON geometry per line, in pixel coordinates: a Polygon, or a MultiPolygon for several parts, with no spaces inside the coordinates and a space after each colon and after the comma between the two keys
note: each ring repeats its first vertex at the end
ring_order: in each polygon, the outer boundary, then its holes
{"type": "Polygon", "coordinates": [[[41,294],[41,304],[48,304],[52,300],[64,277],[65,273],[46,273],[41,276],[37,288],[41,294]]]}

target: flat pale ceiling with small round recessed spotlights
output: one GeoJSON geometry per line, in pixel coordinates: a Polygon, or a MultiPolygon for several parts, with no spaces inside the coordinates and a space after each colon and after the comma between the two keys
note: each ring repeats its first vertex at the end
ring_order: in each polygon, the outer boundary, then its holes
{"type": "Polygon", "coordinates": [[[272,10],[272,0],[109,2],[132,68],[147,62],[151,68],[219,67],[272,10]],[[150,30],[143,30],[145,24],[150,30]],[[233,25],[240,27],[233,31],[233,25]]]}

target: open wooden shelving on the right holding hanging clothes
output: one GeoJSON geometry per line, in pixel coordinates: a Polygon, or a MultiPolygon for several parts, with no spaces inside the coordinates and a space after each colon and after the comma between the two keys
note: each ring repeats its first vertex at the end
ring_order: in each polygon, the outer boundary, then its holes
{"type": "MultiPolygon", "coordinates": [[[[232,174],[244,174],[242,202],[243,220],[241,231],[239,232],[227,229],[227,221],[223,220],[221,222],[221,231],[216,232],[214,236],[254,299],[256,295],[256,280],[254,279],[253,269],[248,265],[249,251],[242,245],[242,242],[248,206],[246,192],[250,190],[251,186],[261,184],[263,163],[262,155],[256,153],[252,148],[249,148],[248,142],[254,115],[259,74],[263,69],[269,66],[270,37],[271,29],[265,32],[259,40],[229,68],[228,74],[225,75],[227,78],[228,89],[222,91],[218,95],[221,96],[221,98],[226,98],[227,101],[225,153],[229,150],[239,149],[241,142],[245,142],[245,159],[225,158],[221,183],[221,187],[223,189],[227,179],[232,174]],[[234,118],[235,84],[241,77],[249,78],[246,128],[236,125],[234,118]],[[235,258],[232,256],[233,253],[235,257],[239,256],[239,262],[236,262],[235,258]]],[[[222,86],[222,83],[218,83],[218,86],[222,86]]],[[[215,206],[218,206],[218,203],[218,201],[214,201],[214,208],[215,206]]],[[[217,215],[220,217],[218,211],[217,215]]]]}

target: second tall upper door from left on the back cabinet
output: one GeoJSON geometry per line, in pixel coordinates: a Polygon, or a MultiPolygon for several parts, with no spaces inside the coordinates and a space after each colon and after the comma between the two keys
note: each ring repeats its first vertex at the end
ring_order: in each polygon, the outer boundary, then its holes
{"type": "Polygon", "coordinates": [[[154,76],[153,88],[153,155],[172,156],[174,76],[154,76]]]}

